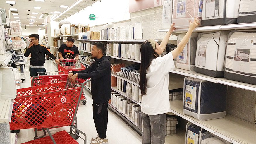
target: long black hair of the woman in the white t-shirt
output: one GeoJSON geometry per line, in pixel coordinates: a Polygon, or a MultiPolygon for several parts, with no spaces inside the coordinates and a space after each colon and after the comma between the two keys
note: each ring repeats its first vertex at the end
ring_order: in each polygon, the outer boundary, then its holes
{"type": "Polygon", "coordinates": [[[140,56],[141,56],[141,64],[140,64],[140,90],[141,95],[146,95],[146,87],[147,87],[147,78],[146,74],[148,71],[148,67],[151,64],[152,59],[159,57],[157,52],[154,51],[150,42],[145,41],[141,44],[140,47],[140,56]]]}

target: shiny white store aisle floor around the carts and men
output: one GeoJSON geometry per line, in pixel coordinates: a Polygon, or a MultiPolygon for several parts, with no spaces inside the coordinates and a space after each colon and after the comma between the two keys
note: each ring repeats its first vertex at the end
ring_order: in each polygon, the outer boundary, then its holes
{"type": "MultiPolygon", "coordinates": [[[[26,64],[24,70],[25,81],[22,83],[21,87],[26,88],[31,86],[30,74],[29,74],[29,62],[26,64]]],[[[57,66],[51,60],[46,60],[44,64],[46,71],[57,71],[57,66]]],[[[90,144],[92,137],[97,136],[95,125],[92,118],[92,96],[89,92],[85,90],[85,95],[87,98],[87,104],[82,105],[80,102],[77,118],[78,118],[78,129],[83,131],[87,136],[87,144],[90,144]]],[[[142,137],[136,133],[130,126],[128,126],[121,118],[119,118],[115,113],[108,110],[108,129],[107,137],[109,144],[140,144],[142,137]]],[[[66,130],[69,131],[69,126],[50,129],[51,134],[58,131],[66,130]]],[[[20,130],[18,136],[18,144],[33,140],[34,130],[33,129],[23,129],[20,130]]],[[[42,131],[38,131],[37,136],[42,136],[42,131]]],[[[49,136],[48,134],[46,136],[49,136]]],[[[81,138],[77,140],[79,144],[83,143],[81,138]]]]}

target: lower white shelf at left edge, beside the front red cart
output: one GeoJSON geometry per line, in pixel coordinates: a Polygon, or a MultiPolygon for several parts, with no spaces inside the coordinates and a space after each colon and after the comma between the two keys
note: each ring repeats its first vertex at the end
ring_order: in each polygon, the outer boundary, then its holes
{"type": "Polygon", "coordinates": [[[0,122],[11,122],[13,99],[0,100],[0,122]]]}

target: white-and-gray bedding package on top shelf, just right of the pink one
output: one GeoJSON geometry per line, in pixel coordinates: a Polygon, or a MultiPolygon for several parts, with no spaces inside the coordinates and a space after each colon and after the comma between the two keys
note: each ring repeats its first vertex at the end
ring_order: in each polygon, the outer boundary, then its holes
{"type": "Polygon", "coordinates": [[[206,0],[203,2],[202,26],[237,23],[240,0],[206,0]]]}

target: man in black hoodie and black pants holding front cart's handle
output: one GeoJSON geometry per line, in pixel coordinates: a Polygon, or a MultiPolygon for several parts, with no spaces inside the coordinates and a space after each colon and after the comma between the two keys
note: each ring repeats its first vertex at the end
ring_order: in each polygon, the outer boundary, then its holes
{"type": "Polygon", "coordinates": [[[111,98],[111,58],[104,54],[106,49],[102,42],[95,42],[92,45],[91,54],[95,61],[84,70],[69,73],[68,78],[73,82],[77,77],[83,79],[92,78],[92,111],[98,136],[91,139],[91,144],[107,144],[107,107],[108,100],[111,98]]]}

